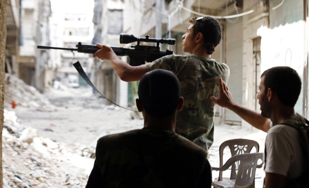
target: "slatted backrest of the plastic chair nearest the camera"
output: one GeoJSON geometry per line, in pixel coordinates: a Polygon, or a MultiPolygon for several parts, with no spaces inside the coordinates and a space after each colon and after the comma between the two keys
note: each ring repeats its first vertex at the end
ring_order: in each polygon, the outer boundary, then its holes
{"type": "MultiPolygon", "coordinates": [[[[235,187],[249,187],[255,184],[255,171],[263,162],[263,153],[246,153],[233,156],[234,160],[240,161],[235,187]],[[260,160],[260,163],[258,164],[260,160]]],[[[254,186],[253,186],[254,187],[254,186]]]]}

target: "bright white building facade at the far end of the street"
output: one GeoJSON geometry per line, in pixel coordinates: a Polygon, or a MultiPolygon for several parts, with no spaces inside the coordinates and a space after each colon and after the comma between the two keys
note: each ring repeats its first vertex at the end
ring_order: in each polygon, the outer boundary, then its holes
{"type": "MultiPolygon", "coordinates": [[[[87,11],[92,8],[93,3],[87,3],[87,7],[77,6],[77,4],[82,4],[81,2],[81,0],[53,1],[50,26],[51,46],[76,48],[79,42],[91,44],[93,37],[92,14],[87,11]],[[67,8],[68,6],[71,8],[67,8]]],[[[53,79],[61,81],[67,87],[87,86],[72,63],[79,61],[85,72],[88,73],[93,62],[91,55],[64,50],[50,50],[50,53],[50,64],[54,72],[53,79]]]]}

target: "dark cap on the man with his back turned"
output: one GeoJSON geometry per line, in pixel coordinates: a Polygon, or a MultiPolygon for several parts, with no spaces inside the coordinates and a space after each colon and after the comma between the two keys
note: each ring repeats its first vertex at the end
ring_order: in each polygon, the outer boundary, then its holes
{"type": "Polygon", "coordinates": [[[171,115],[180,98],[178,78],[168,70],[152,70],[140,80],[138,94],[148,114],[155,117],[171,115]]]}

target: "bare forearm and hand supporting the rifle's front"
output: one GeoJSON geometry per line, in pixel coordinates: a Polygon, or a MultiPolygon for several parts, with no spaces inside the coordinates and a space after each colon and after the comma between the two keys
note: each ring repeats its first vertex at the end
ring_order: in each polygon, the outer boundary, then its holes
{"type": "Polygon", "coordinates": [[[111,47],[97,44],[97,47],[101,48],[93,54],[94,58],[100,58],[101,60],[110,60],[112,66],[121,80],[124,81],[138,81],[142,76],[148,72],[146,64],[139,66],[131,66],[128,63],[123,62],[113,51],[111,47]]]}

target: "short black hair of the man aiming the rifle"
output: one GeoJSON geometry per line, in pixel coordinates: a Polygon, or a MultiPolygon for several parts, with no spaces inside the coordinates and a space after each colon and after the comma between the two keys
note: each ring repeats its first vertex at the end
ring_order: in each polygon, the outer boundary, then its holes
{"type": "Polygon", "coordinates": [[[212,54],[215,47],[221,41],[221,27],[220,23],[212,17],[205,16],[202,19],[193,17],[189,20],[193,24],[193,34],[198,32],[203,34],[204,47],[207,49],[207,54],[212,54]]]}

